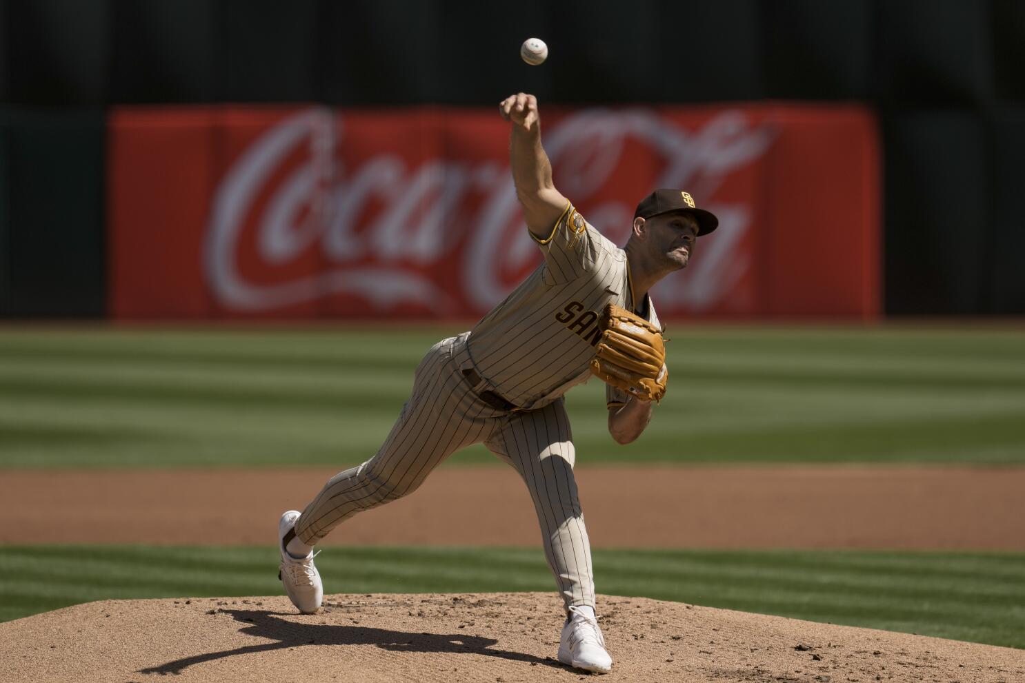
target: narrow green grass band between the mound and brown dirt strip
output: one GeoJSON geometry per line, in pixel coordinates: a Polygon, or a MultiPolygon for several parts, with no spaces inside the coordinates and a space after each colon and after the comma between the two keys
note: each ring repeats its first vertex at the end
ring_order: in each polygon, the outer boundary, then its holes
{"type": "MultiPolygon", "coordinates": [[[[333,548],[329,593],[551,591],[539,549],[333,548]]],[[[1025,647],[1025,553],[594,552],[599,591],[1025,647]]],[[[278,595],[269,548],[0,547],[0,620],[98,599],[278,595]]]]}

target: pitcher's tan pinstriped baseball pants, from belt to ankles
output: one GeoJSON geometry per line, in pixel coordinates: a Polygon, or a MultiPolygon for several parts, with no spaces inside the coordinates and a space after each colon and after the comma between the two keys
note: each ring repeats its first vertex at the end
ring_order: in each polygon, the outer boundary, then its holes
{"type": "Polygon", "coordinates": [[[413,493],[448,456],[483,442],[511,465],[530,489],[544,556],[570,605],[594,606],[590,543],[573,477],[575,451],[563,399],[534,411],[508,413],[478,397],[462,369],[473,367],[463,333],[424,356],[413,394],[384,444],[367,462],[339,472],[306,506],[296,536],[316,545],[358,512],[413,493]]]}

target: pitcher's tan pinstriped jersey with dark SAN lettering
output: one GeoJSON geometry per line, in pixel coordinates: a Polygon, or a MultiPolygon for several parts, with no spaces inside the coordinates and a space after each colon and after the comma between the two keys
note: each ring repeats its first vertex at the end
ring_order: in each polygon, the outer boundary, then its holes
{"type": "MultiPolygon", "coordinates": [[[[531,233],[544,256],[508,297],[474,328],[467,348],[494,391],[524,409],[550,403],[585,382],[607,303],[633,308],[626,252],[567,202],[545,238],[531,233]]],[[[647,318],[659,326],[646,297],[647,318]]],[[[609,388],[610,403],[625,400],[609,388]]]]}

